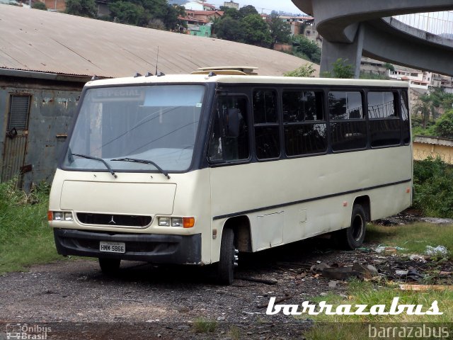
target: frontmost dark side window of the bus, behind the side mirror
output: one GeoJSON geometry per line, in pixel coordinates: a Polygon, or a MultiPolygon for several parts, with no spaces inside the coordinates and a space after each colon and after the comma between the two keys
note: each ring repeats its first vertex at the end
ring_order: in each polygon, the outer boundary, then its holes
{"type": "Polygon", "coordinates": [[[213,124],[207,157],[210,162],[248,159],[247,100],[219,97],[214,104],[213,124]]]}

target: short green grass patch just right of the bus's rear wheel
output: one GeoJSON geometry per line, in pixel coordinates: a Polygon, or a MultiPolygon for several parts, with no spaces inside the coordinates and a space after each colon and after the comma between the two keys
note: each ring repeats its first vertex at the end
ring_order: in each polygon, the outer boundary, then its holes
{"type": "Polygon", "coordinates": [[[411,225],[367,225],[365,242],[378,242],[385,246],[398,246],[403,253],[424,254],[426,246],[445,246],[448,258],[453,259],[453,225],[414,223],[411,225]]]}

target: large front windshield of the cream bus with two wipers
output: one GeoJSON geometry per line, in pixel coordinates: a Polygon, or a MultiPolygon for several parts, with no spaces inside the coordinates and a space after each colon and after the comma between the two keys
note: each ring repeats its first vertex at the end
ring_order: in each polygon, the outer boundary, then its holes
{"type": "Polygon", "coordinates": [[[202,85],[88,89],[64,169],[187,170],[204,94],[202,85]]]}

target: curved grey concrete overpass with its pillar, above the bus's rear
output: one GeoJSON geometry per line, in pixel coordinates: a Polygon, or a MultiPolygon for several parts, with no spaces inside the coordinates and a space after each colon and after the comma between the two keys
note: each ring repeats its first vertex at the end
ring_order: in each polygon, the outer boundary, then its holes
{"type": "Polygon", "coordinates": [[[315,18],[323,36],[321,72],[338,58],[355,65],[372,57],[415,69],[453,76],[453,40],[411,28],[391,16],[447,11],[452,0],[292,0],[315,18]]]}

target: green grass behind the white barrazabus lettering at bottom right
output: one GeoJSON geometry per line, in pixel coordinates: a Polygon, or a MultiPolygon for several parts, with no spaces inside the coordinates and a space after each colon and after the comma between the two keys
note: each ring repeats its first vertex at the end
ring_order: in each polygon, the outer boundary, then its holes
{"type": "MultiPolygon", "coordinates": [[[[438,327],[449,328],[453,319],[453,291],[428,290],[408,291],[398,290],[397,285],[390,283],[379,286],[371,281],[351,280],[348,285],[348,298],[339,295],[329,294],[324,297],[316,297],[311,303],[318,304],[321,301],[333,305],[333,311],[338,305],[386,305],[388,312],[394,297],[398,297],[398,304],[423,305],[423,312],[431,307],[432,302],[437,300],[437,305],[442,315],[408,315],[402,312],[397,315],[318,315],[302,314],[301,317],[314,319],[315,325],[309,331],[304,332],[306,339],[310,340],[361,340],[369,339],[369,324],[375,329],[381,327],[438,327]]],[[[316,308],[319,310],[319,308],[316,308]]],[[[369,307],[367,310],[369,312],[369,307]]],[[[379,339],[387,339],[386,337],[379,339]]],[[[389,339],[400,339],[398,336],[389,339]]],[[[419,338],[426,339],[426,338],[419,338]]],[[[431,339],[431,338],[429,338],[431,339]]]]}

